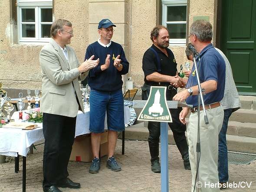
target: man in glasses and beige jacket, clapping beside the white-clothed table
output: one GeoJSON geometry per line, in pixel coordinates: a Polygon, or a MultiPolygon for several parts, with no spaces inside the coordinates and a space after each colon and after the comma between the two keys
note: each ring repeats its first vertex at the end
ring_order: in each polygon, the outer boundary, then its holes
{"type": "Polygon", "coordinates": [[[40,52],[42,68],[43,112],[43,191],[59,192],[58,187],[80,188],[67,176],[67,166],[75,138],[78,110],[83,111],[78,81],[85,79],[89,70],[98,65],[94,55],[81,65],[75,51],[67,46],[73,36],[72,24],[56,20],[51,26],[50,42],[40,52]]]}

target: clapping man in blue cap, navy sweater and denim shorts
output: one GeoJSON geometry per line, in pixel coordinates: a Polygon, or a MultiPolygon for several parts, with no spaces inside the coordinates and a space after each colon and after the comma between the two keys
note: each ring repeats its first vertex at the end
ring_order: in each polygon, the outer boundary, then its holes
{"type": "Polygon", "coordinates": [[[99,65],[90,70],[88,83],[90,92],[90,127],[92,132],[92,153],[94,159],[90,173],[100,169],[99,148],[101,134],[104,132],[105,113],[108,124],[108,160],[107,167],[112,171],[121,171],[114,157],[117,132],[125,130],[124,100],[122,94],[122,76],[128,73],[129,63],[122,46],[111,41],[115,25],[108,19],[98,23],[98,41],[90,44],[85,52],[85,60],[92,55],[99,58],[99,65]]]}

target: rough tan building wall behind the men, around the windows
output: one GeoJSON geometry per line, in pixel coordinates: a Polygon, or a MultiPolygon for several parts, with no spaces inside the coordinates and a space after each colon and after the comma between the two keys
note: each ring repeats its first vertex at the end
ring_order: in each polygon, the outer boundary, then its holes
{"type": "MultiPolygon", "coordinates": [[[[130,62],[127,75],[135,86],[143,85],[142,57],[151,46],[150,31],[157,23],[157,0],[54,0],[54,16],[73,24],[74,37],[71,46],[82,62],[89,43],[99,36],[97,26],[102,18],[109,18],[117,27],[113,41],[120,43],[130,62]]],[[[216,3],[215,3],[216,4],[216,3]]],[[[214,22],[214,0],[190,0],[189,25],[194,16],[209,16],[214,22]]],[[[8,89],[40,89],[41,70],[39,52],[41,45],[19,45],[12,43],[12,30],[16,26],[10,22],[10,1],[0,1],[0,81],[8,89]]],[[[214,26],[214,29],[216,26],[214,26]]],[[[187,61],[186,46],[170,46],[174,52],[178,68],[187,61]]],[[[178,69],[179,71],[179,69],[178,69]]],[[[124,77],[124,81],[126,76],[124,77]]]]}

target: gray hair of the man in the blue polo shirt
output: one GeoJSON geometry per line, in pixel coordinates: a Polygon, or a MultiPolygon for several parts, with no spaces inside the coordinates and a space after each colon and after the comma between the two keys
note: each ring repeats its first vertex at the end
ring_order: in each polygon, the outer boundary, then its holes
{"type": "Polygon", "coordinates": [[[213,39],[213,26],[209,21],[196,20],[190,26],[190,34],[194,34],[200,42],[210,42],[213,39]]]}

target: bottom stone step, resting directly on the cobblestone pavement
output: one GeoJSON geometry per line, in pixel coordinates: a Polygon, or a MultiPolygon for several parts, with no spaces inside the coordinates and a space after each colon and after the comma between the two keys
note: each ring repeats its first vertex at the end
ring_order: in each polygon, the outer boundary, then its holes
{"type": "MultiPolygon", "coordinates": [[[[148,140],[148,129],[144,123],[139,123],[125,129],[125,139],[128,140],[148,140]]],[[[121,134],[118,138],[121,138],[121,134]]],[[[227,146],[230,151],[256,153],[256,138],[237,135],[227,135],[227,146]]],[[[168,130],[168,143],[175,144],[171,130],[168,130]]]]}

